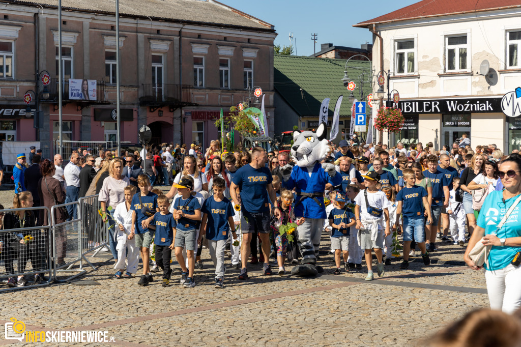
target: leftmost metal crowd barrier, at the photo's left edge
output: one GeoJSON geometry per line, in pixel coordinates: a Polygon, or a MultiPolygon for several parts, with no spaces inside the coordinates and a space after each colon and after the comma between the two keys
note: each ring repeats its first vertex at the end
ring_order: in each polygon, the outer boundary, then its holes
{"type": "MultiPolygon", "coordinates": [[[[11,277],[27,276],[29,285],[24,287],[2,288],[0,292],[47,286],[53,276],[53,257],[49,252],[52,242],[52,227],[49,218],[46,226],[40,219],[40,212],[47,211],[47,217],[51,211],[47,207],[11,208],[0,210],[0,213],[16,213],[17,211],[36,214],[36,227],[24,227],[17,229],[0,230],[0,240],[3,241],[0,251],[0,279],[7,284],[11,277]],[[20,240],[23,239],[23,243],[20,240]],[[29,267],[29,263],[31,264],[29,267]],[[16,264],[16,271],[15,271],[16,264]],[[41,276],[48,273],[45,282],[34,284],[34,275],[41,276]],[[30,276],[32,275],[32,276],[30,276]],[[30,284],[32,283],[32,284],[30,284]]],[[[0,216],[1,218],[1,216],[0,216]]]]}

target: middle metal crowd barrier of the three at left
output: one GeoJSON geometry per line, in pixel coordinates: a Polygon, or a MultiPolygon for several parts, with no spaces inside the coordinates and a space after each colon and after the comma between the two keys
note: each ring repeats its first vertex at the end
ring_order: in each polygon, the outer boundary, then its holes
{"type": "MultiPolygon", "coordinates": [[[[61,207],[70,205],[77,205],[79,210],[79,203],[77,201],[61,205],[55,205],[51,208],[51,220],[53,225],[53,278],[56,282],[67,282],[86,271],[83,270],[83,254],[82,254],[82,240],[83,232],[81,230],[81,218],[78,214],[77,219],[65,221],[56,224],[55,211],[61,207]],[[73,269],[72,266],[79,262],[79,268],[73,269]],[[58,280],[57,273],[63,272],[77,272],[76,275],[67,277],[66,279],[58,280]]],[[[86,236],[86,233],[85,233],[86,236]]],[[[88,262],[93,268],[94,266],[88,262]]],[[[95,268],[94,268],[95,269],[95,268]]]]}

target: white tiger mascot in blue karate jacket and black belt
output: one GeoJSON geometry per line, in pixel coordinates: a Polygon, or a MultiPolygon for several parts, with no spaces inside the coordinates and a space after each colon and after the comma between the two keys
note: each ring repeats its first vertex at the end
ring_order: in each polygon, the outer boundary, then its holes
{"type": "Polygon", "coordinates": [[[324,122],[320,123],[316,132],[295,130],[291,156],[296,165],[282,168],[283,187],[296,191],[295,217],[305,218],[305,222],[297,227],[302,265],[291,270],[296,276],[315,276],[323,271],[315,263],[324,219],[327,218],[324,191],[327,183],[335,186],[342,182],[342,176],[333,164],[320,164],[329,154],[326,133],[324,122]]]}

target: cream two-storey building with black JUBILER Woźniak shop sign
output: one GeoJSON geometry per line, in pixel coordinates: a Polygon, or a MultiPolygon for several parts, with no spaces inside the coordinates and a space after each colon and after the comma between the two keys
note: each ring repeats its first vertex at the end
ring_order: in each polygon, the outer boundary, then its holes
{"type": "Polygon", "coordinates": [[[521,86],[521,2],[497,3],[488,9],[474,2],[467,11],[462,4],[451,14],[445,2],[422,1],[355,25],[381,36],[383,45],[373,35],[375,69],[381,69],[382,50],[389,89],[400,94],[407,127],[391,145],[419,139],[439,149],[466,133],[473,148],[494,143],[505,153],[519,149],[521,117],[507,117],[502,98],[521,86]],[[480,75],[487,62],[488,72],[480,75]]]}

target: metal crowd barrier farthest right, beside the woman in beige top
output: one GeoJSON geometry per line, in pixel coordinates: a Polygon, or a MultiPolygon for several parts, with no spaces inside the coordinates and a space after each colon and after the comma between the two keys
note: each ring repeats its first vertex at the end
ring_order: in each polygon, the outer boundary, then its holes
{"type": "Polygon", "coordinates": [[[109,248],[108,224],[104,223],[98,210],[101,209],[99,195],[90,195],[82,197],[78,203],[78,218],[81,219],[81,230],[83,233],[83,242],[81,244],[83,259],[96,269],[86,259],[86,255],[93,253],[91,257],[95,257],[104,247],[109,248]]]}

